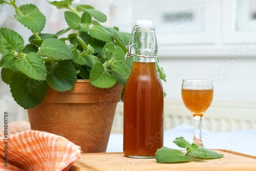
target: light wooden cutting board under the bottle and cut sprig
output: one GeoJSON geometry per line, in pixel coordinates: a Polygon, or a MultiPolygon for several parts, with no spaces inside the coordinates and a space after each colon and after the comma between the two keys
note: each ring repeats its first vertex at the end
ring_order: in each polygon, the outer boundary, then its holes
{"type": "Polygon", "coordinates": [[[133,159],[124,157],[123,153],[82,154],[70,171],[82,170],[256,170],[256,157],[237,152],[214,149],[224,154],[221,159],[201,160],[193,158],[191,162],[177,164],[160,164],[156,159],[133,159]]]}

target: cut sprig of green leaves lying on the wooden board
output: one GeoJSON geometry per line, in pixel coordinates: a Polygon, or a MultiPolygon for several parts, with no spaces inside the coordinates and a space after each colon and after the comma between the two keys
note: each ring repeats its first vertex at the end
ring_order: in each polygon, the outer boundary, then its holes
{"type": "Polygon", "coordinates": [[[183,137],[176,138],[173,142],[181,148],[186,148],[186,154],[183,155],[179,149],[172,149],[164,146],[160,149],[157,149],[157,163],[189,162],[191,161],[190,157],[194,156],[197,156],[201,159],[218,159],[223,157],[222,154],[218,154],[214,151],[211,151],[210,149],[198,146],[195,143],[190,144],[183,137]]]}

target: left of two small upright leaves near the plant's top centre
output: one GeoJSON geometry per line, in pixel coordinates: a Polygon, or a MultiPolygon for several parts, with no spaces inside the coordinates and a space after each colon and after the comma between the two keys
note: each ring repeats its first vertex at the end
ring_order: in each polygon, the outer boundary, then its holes
{"type": "Polygon", "coordinates": [[[81,23],[81,17],[72,11],[65,11],[64,16],[69,27],[76,30],[81,23]]]}

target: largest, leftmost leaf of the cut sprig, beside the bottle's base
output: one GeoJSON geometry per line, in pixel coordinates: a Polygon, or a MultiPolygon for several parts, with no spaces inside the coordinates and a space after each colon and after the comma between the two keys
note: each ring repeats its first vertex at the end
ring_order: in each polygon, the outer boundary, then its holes
{"type": "Polygon", "coordinates": [[[162,147],[156,152],[157,163],[181,163],[189,162],[191,159],[182,154],[179,149],[162,147]]]}

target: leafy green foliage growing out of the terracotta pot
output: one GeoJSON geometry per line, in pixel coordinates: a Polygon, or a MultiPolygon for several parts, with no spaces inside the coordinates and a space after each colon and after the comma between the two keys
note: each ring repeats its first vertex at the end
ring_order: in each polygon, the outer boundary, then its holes
{"type": "MultiPolygon", "coordinates": [[[[73,0],[49,2],[67,9],[68,28],[56,34],[41,33],[46,17],[33,4],[17,7],[15,0],[0,0],[16,10],[14,18],[28,28],[29,44],[14,30],[0,28],[1,77],[10,85],[14,100],[24,109],[42,102],[47,85],[59,92],[70,91],[77,79],[89,79],[93,86],[111,88],[125,84],[132,59],[125,59],[130,34],[104,27],[106,15],[90,5],[72,5],[73,0]],[[66,37],[61,37],[72,31],[66,37]]],[[[157,68],[165,80],[162,68],[157,68]]]]}

